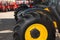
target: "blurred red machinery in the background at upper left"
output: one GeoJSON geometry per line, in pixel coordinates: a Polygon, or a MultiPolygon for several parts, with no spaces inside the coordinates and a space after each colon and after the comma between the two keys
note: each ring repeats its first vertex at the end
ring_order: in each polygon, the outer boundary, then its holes
{"type": "Polygon", "coordinates": [[[18,4],[16,2],[0,2],[0,11],[13,11],[18,8],[18,4]]]}

